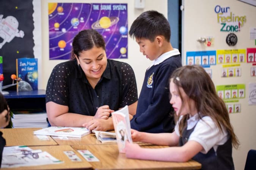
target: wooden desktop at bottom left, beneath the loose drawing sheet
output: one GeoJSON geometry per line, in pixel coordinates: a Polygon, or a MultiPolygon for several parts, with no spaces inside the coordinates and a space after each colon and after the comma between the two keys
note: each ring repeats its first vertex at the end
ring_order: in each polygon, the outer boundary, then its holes
{"type": "Polygon", "coordinates": [[[28,166],[28,167],[16,167],[16,168],[1,168],[1,170],[50,170],[50,169],[92,169],[92,166],[87,162],[77,151],[75,151],[71,146],[68,145],[52,145],[52,146],[32,146],[33,150],[41,149],[42,151],[47,151],[53,157],[64,161],[61,164],[49,164],[49,165],[39,165],[39,166],[28,166]],[[68,156],[66,156],[63,151],[74,151],[76,155],[82,160],[81,162],[72,162],[68,156]]]}

